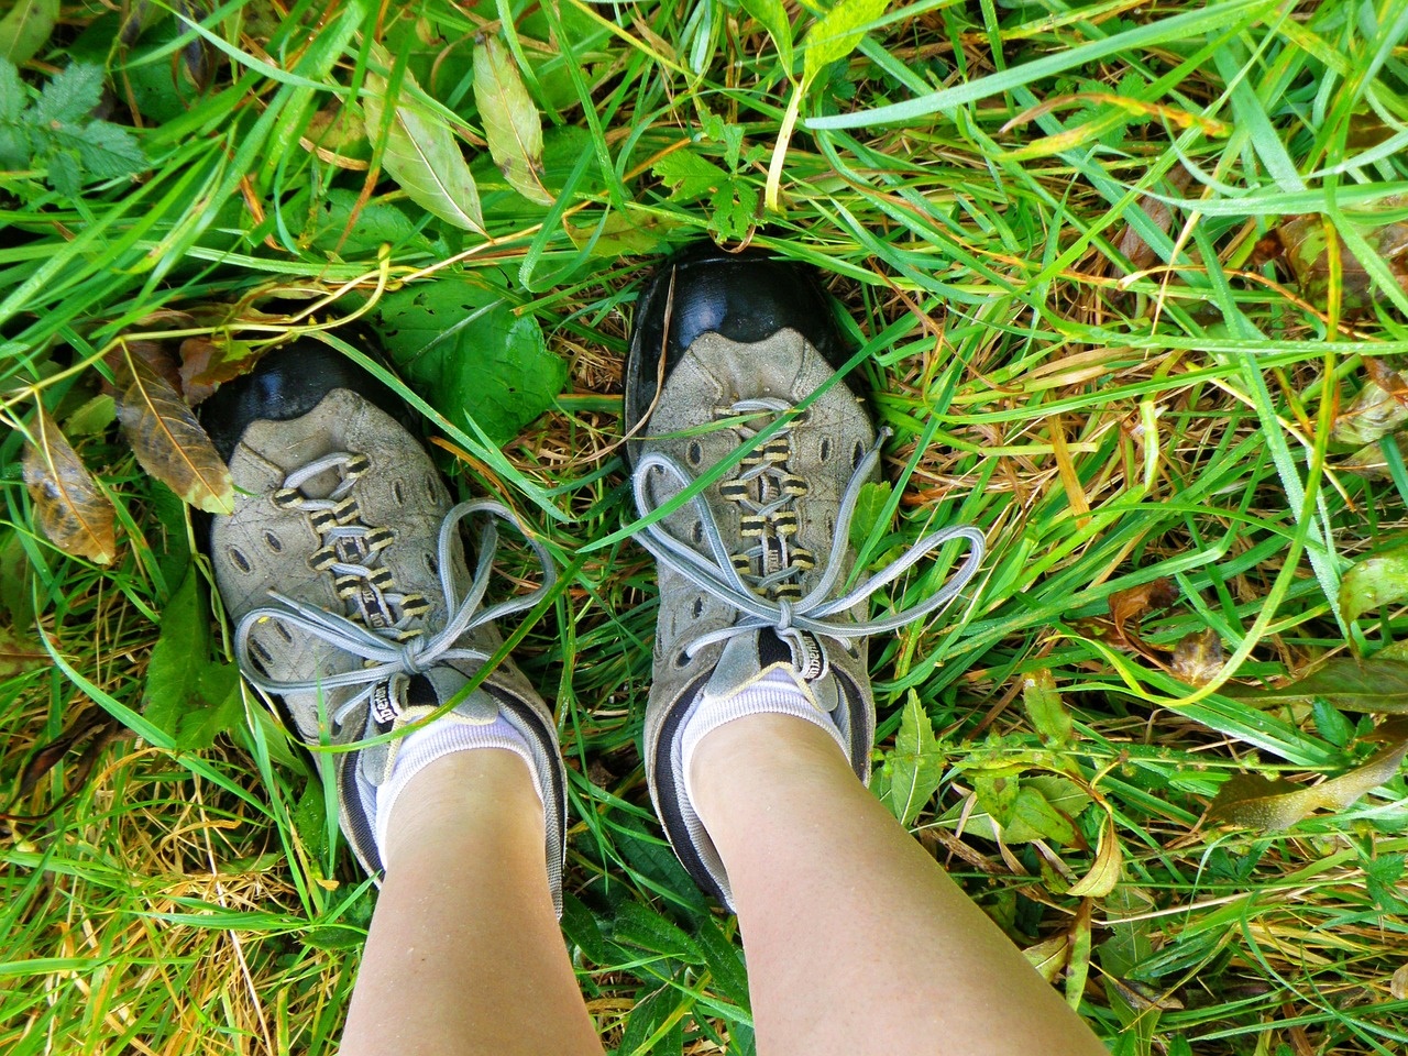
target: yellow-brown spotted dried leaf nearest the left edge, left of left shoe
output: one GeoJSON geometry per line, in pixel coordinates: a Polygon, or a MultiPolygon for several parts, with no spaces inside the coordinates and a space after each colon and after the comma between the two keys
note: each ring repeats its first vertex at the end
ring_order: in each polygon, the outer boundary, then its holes
{"type": "Polygon", "coordinates": [[[24,449],[24,483],[45,538],[65,553],[110,565],[117,556],[117,511],[73,445],[39,407],[24,449]]]}

